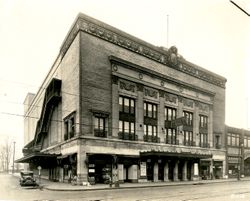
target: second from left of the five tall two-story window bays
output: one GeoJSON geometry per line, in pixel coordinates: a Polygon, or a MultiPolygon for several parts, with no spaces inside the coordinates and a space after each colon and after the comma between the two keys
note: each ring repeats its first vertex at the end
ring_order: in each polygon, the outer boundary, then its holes
{"type": "Polygon", "coordinates": [[[158,142],[157,105],[144,102],[144,141],[158,142]]]}

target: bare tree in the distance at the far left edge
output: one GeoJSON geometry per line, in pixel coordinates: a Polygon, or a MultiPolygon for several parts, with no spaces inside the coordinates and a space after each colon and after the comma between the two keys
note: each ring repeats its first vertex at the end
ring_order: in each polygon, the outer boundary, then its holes
{"type": "Polygon", "coordinates": [[[3,171],[9,172],[9,166],[12,156],[12,143],[11,140],[7,137],[4,142],[0,145],[0,160],[1,168],[3,171]]]}

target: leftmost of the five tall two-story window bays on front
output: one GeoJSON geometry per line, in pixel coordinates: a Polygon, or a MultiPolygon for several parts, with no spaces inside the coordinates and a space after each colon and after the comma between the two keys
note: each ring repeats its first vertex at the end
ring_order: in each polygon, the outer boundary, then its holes
{"type": "Polygon", "coordinates": [[[135,132],[135,99],[119,97],[119,138],[137,140],[135,132]]]}

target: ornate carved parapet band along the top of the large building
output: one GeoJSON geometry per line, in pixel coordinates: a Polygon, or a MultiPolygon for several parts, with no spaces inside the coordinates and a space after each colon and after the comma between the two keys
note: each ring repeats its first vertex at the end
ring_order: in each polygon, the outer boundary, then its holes
{"type": "Polygon", "coordinates": [[[73,24],[61,46],[61,58],[63,58],[79,31],[96,36],[120,47],[126,48],[132,52],[150,58],[156,62],[164,64],[168,67],[212,83],[216,86],[225,88],[226,79],[224,77],[197,67],[196,65],[184,60],[178,55],[178,50],[176,47],[170,47],[167,51],[163,50],[160,47],[151,45],[143,40],[140,40],[82,13],[77,16],[75,23],[73,24]]]}

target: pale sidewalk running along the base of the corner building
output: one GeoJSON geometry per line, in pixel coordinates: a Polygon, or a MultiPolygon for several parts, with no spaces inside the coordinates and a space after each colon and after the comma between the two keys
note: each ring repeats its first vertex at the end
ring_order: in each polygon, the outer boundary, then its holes
{"type": "MultiPolygon", "coordinates": [[[[19,177],[19,174],[13,176],[19,177]]],[[[250,177],[241,178],[240,181],[250,181],[250,177]]],[[[123,183],[119,187],[110,187],[109,184],[96,184],[90,186],[72,185],[70,183],[53,182],[41,179],[40,187],[51,191],[94,191],[94,190],[114,190],[128,188],[148,188],[162,186],[179,186],[179,185],[202,185],[212,183],[239,182],[237,178],[200,180],[200,181],[169,181],[169,182],[144,182],[144,183],[123,183]]]]}

